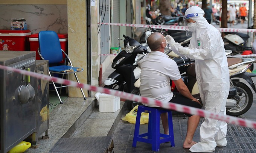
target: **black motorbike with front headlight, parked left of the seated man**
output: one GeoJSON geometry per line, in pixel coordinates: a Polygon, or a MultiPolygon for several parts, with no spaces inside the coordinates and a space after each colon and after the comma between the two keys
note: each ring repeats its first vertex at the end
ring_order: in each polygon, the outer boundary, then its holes
{"type": "Polygon", "coordinates": [[[123,37],[125,49],[113,59],[111,67],[115,71],[104,81],[104,88],[131,93],[136,79],[140,77],[140,71],[136,69],[134,62],[140,55],[147,54],[148,50],[137,40],[125,35],[123,37]]]}

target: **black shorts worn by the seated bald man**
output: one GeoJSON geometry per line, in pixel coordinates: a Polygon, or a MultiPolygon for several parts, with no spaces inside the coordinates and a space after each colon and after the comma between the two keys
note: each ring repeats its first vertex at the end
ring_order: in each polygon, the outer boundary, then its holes
{"type": "MultiPolygon", "coordinates": [[[[194,107],[194,108],[202,108],[202,106],[195,101],[192,101],[184,96],[181,95],[181,93],[173,93],[172,99],[169,101],[175,104],[180,104],[180,105],[185,105],[189,107],[194,107]]],[[[186,114],[188,117],[192,116],[191,114],[186,114]]]]}

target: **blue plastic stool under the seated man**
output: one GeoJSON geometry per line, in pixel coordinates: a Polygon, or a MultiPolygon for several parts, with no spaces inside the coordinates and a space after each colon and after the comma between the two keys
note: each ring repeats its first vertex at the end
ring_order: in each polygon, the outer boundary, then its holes
{"type": "Polygon", "coordinates": [[[164,142],[171,142],[171,146],[174,147],[174,133],[172,125],[172,111],[165,110],[159,107],[147,107],[140,105],[137,111],[134,136],[133,136],[133,147],[136,147],[137,141],[146,142],[152,144],[152,151],[159,151],[160,144],[164,142]],[[140,130],[140,115],[142,112],[149,113],[148,118],[148,132],[139,135],[140,130]],[[168,126],[169,135],[160,133],[160,115],[162,113],[168,113],[168,126]],[[146,137],[147,138],[144,138],[146,137]],[[160,139],[162,137],[162,139],[160,139]]]}

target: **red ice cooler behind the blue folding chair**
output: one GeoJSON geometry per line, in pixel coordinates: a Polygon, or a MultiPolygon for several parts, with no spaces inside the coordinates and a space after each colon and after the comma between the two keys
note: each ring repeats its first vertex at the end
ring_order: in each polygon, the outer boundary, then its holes
{"type": "MultiPolygon", "coordinates": [[[[59,42],[61,43],[61,49],[63,49],[67,54],[67,34],[58,34],[59,36],[59,42]]],[[[39,48],[39,42],[38,42],[38,33],[31,34],[29,36],[29,43],[30,43],[30,51],[36,51],[36,60],[40,60],[40,55],[37,52],[37,49],[39,48]]],[[[65,57],[65,54],[63,54],[63,58],[65,57]]]]}

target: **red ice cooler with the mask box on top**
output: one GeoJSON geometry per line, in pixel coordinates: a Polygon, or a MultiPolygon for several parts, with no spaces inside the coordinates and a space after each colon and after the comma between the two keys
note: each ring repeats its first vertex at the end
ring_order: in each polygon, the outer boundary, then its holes
{"type": "Polygon", "coordinates": [[[27,38],[30,30],[0,30],[0,50],[28,51],[27,38]]]}

